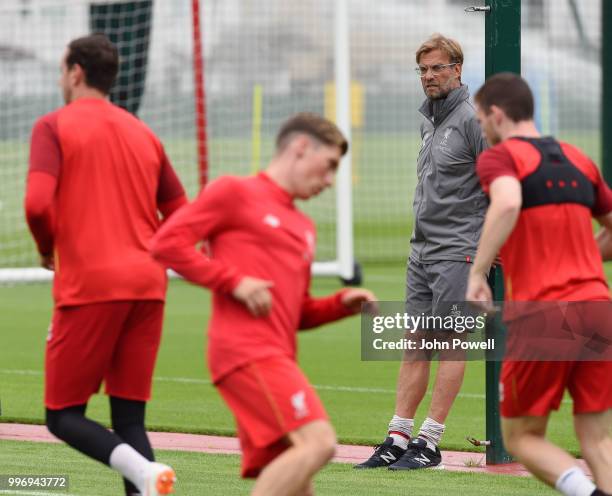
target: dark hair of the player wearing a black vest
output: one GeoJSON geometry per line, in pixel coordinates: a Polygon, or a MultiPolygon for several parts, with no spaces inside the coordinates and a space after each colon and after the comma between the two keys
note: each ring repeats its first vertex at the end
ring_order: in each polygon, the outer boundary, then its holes
{"type": "Polygon", "coordinates": [[[533,94],[527,81],[512,72],[494,74],[474,95],[474,101],[485,113],[496,105],[514,122],[533,119],[533,94]]]}

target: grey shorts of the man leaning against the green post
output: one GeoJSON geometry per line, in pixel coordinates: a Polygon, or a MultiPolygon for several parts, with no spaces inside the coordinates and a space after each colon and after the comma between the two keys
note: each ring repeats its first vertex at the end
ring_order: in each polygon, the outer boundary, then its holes
{"type": "Polygon", "coordinates": [[[406,312],[439,314],[465,302],[472,264],[443,260],[420,263],[408,260],[406,271],[406,312]]]}

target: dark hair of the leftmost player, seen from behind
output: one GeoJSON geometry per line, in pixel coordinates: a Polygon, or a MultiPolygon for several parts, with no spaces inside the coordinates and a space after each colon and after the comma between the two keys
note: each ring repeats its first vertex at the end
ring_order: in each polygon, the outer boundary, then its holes
{"type": "Polygon", "coordinates": [[[119,70],[117,47],[102,33],[72,40],[68,44],[66,66],[79,64],[85,73],[85,83],[105,95],[110,92],[119,70]]]}

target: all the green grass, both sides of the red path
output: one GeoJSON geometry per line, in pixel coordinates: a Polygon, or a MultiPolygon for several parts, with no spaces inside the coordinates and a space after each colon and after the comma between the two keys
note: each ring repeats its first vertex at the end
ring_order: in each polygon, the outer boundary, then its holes
{"type": "MultiPolygon", "coordinates": [[[[399,264],[366,266],[365,285],[381,300],[402,300],[404,270],[399,264]]],[[[612,265],[607,265],[606,272],[612,279],[612,265]]],[[[315,278],[313,292],[322,295],[338,287],[335,279],[315,278]]],[[[147,413],[152,430],[234,433],[232,416],[211,385],[204,362],[209,303],[207,291],[182,281],[171,282],[154,395],[147,413]]],[[[43,423],[43,353],[51,308],[48,284],[0,287],[0,422],[43,423]]],[[[299,347],[300,363],[317,388],[340,441],[381,442],[393,413],[398,363],[360,360],[358,317],[302,333],[299,347]]],[[[443,449],[472,451],[475,448],[465,437],[484,439],[484,368],[482,362],[468,363],[462,391],[447,420],[443,449]]],[[[417,424],[430,398],[428,394],[417,424]]],[[[106,398],[94,396],[88,414],[108,424],[106,398]]],[[[554,442],[579,454],[569,400],[552,415],[549,434],[554,442]]],[[[162,451],[159,458],[176,466],[181,478],[178,494],[202,494],[204,488],[206,494],[245,494],[250,487],[249,482],[238,479],[235,456],[162,451]]],[[[0,467],[3,473],[66,472],[71,477],[70,494],[103,496],[120,491],[118,477],[63,446],[0,442],[0,467]]],[[[356,472],[350,466],[333,464],[317,478],[317,489],[324,495],[391,495],[398,494],[406,483],[403,474],[356,472]]],[[[424,495],[437,495],[442,488],[469,488],[473,495],[550,493],[530,479],[439,471],[411,474],[409,483],[411,490],[424,495]]]]}

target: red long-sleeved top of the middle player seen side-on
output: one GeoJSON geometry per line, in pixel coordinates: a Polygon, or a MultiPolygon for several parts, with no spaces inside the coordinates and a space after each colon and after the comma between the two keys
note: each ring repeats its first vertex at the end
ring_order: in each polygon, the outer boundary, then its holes
{"type": "Polygon", "coordinates": [[[153,239],[155,258],[213,290],[208,364],[215,382],[257,359],[296,358],[296,331],[349,315],[342,291],[309,294],[315,227],[265,174],[223,177],[182,207],[153,239]],[[208,255],[196,248],[208,244],[208,255]],[[231,292],[242,277],[270,280],[273,303],[254,317],[231,292]]]}

